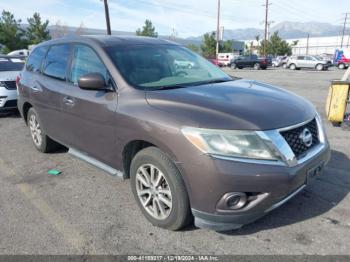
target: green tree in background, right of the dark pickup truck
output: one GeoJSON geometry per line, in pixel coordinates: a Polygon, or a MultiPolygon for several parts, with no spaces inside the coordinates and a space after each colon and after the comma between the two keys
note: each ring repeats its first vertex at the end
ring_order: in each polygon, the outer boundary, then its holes
{"type": "MultiPolygon", "coordinates": [[[[265,46],[266,42],[262,41],[259,48],[260,54],[264,53],[265,46]]],[[[266,51],[267,54],[270,55],[291,55],[292,47],[278,35],[278,32],[274,32],[270,39],[267,41],[266,51]]]]}

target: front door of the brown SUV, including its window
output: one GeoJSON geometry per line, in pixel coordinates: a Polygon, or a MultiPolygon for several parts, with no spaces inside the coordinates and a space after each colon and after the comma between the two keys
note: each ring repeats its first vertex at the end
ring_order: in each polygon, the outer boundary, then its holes
{"type": "Polygon", "coordinates": [[[118,96],[106,66],[91,47],[75,44],[68,79],[62,98],[68,145],[112,165],[118,96]],[[100,73],[111,92],[79,88],[79,78],[87,73],[100,73]]]}

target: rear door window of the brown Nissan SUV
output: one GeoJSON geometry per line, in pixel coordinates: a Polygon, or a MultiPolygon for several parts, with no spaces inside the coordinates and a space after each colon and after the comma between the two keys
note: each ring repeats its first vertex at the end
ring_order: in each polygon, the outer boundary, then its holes
{"type": "Polygon", "coordinates": [[[44,74],[60,80],[66,79],[69,45],[53,45],[46,55],[44,74]]]}

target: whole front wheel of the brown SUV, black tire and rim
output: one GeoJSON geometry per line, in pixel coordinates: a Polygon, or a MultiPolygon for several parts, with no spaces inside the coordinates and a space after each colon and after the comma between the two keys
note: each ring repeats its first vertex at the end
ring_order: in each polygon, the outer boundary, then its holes
{"type": "Polygon", "coordinates": [[[154,226],[179,230],[191,222],[182,176],[158,148],[147,147],[136,154],[131,162],[130,182],[138,206],[154,226]]]}

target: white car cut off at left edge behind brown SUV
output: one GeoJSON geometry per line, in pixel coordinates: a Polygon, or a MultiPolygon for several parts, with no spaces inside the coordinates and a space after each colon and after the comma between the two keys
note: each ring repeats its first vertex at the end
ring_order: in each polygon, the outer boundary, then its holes
{"type": "Polygon", "coordinates": [[[21,58],[0,56],[0,111],[17,108],[16,78],[23,66],[21,58]]]}

